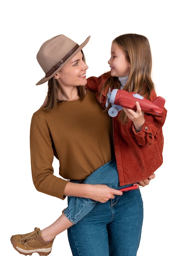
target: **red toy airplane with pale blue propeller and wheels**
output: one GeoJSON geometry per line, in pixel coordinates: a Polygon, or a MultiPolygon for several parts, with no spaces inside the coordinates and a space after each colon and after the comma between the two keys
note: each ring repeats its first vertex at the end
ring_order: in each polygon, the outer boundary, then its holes
{"type": "Polygon", "coordinates": [[[108,107],[109,102],[111,103],[112,107],[109,108],[108,114],[110,117],[116,117],[118,112],[123,108],[136,110],[136,101],[139,102],[142,111],[155,112],[157,114],[161,114],[163,112],[163,107],[165,105],[165,99],[162,97],[157,97],[154,101],[149,101],[136,92],[113,89],[110,93],[109,88],[106,107],[108,107]]]}

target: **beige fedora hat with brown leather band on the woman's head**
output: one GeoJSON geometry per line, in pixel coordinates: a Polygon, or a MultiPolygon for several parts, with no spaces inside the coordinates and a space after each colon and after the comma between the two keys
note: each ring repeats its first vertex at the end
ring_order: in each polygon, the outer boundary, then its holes
{"type": "Polygon", "coordinates": [[[40,47],[37,60],[45,76],[36,85],[45,83],[59,72],[88,43],[90,36],[81,45],[64,35],[47,40],[40,47]]]}

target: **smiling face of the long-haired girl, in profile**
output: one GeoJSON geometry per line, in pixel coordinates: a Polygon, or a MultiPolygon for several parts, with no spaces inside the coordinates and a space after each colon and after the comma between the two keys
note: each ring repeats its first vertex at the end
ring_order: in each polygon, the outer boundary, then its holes
{"type": "Polygon", "coordinates": [[[108,61],[111,68],[111,76],[124,77],[129,75],[130,63],[126,60],[123,50],[113,43],[111,47],[111,58],[108,61]]]}

